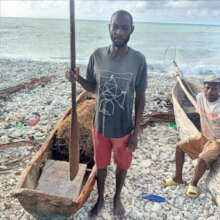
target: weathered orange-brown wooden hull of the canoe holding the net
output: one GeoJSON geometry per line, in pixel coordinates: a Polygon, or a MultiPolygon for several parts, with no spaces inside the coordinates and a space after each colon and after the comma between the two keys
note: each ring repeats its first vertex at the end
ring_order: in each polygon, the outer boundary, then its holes
{"type": "MultiPolygon", "coordinates": [[[[77,103],[85,99],[86,92],[77,97],[77,103]]],[[[59,124],[71,114],[71,107],[66,110],[64,116],[58,121],[49,135],[47,141],[32,158],[22,172],[13,196],[18,198],[23,208],[37,219],[66,219],[82,207],[93,189],[96,178],[96,166],[86,170],[83,184],[77,199],[50,195],[36,190],[43,164],[51,159],[51,148],[59,124]]]]}

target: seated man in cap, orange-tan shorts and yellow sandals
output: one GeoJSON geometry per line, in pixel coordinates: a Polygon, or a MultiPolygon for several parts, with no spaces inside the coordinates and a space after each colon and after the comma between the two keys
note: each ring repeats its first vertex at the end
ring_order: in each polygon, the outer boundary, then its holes
{"type": "Polygon", "coordinates": [[[186,189],[191,198],[198,196],[197,183],[220,155],[220,78],[207,77],[204,80],[203,92],[196,97],[200,114],[201,133],[195,137],[180,141],[176,147],[176,174],[173,178],[162,180],[164,186],[183,184],[182,169],[184,154],[192,159],[198,158],[192,182],[186,189]]]}

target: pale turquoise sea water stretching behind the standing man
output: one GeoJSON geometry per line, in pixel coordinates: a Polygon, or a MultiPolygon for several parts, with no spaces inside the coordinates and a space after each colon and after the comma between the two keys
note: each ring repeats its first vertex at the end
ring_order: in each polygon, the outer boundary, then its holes
{"type": "MultiPolygon", "coordinates": [[[[141,51],[149,71],[167,72],[175,59],[184,74],[220,74],[220,26],[135,23],[129,46],[141,51]]],[[[65,19],[0,18],[0,58],[69,62],[65,19]]],[[[87,64],[98,47],[111,44],[107,21],[76,21],[76,60],[87,64]]]]}

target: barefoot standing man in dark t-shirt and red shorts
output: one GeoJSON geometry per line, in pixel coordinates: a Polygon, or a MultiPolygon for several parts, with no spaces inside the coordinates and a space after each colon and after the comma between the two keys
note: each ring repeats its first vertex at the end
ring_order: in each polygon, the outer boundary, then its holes
{"type": "Polygon", "coordinates": [[[98,200],[89,213],[96,218],[104,204],[104,185],[111,151],[114,150],[116,192],[114,216],[123,217],[124,207],[120,193],[137,146],[139,124],[145,104],[147,65],[145,57],[127,46],[134,30],[131,14],[116,11],[111,17],[109,32],[112,44],[97,49],[90,57],[86,79],[79,69],[68,72],[70,81],[76,80],[84,89],[96,94],[96,112],[93,120],[94,159],[97,171],[98,200]],[[135,95],[136,94],[136,95],[135,95]],[[132,120],[135,96],[135,120],[132,120]]]}

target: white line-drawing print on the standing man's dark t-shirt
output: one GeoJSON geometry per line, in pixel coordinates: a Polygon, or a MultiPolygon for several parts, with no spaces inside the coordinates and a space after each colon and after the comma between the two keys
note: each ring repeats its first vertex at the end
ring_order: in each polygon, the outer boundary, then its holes
{"type": "Polygon", "coordinates": [[[102,70],[99,88],[99,112],[112,116],[116,105],[125,109],[125,100],[132,81],[132,73],[114,73],[102,70]]]}

